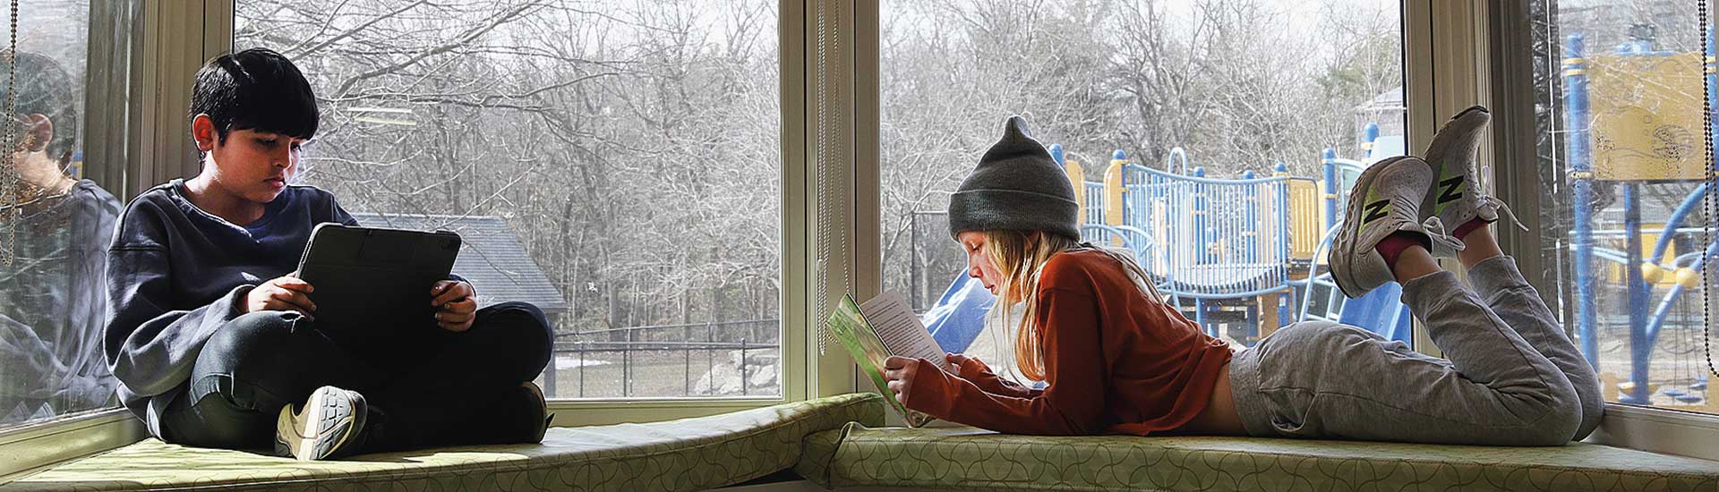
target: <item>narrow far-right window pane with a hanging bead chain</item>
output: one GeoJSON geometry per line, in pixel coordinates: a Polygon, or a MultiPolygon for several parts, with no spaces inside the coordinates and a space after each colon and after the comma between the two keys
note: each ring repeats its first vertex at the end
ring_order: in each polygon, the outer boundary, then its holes
{"type": "Polygon", "coordinates": [[[1712,34],[1702,34],[1697,2],[1528,9],[1535,165],[1551,177],[1540,255],[1556,308],[1606,401],[1719,413],[1707,363],[1714,306],[1702,303],[1716,220],[1702,186],[1712,34]]]}

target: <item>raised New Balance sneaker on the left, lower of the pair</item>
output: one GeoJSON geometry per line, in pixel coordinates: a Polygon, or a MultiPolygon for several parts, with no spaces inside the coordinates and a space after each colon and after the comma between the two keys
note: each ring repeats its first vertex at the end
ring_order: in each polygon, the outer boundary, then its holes
{"type": "Polygon", "coordinates": [[[1392,157],[1367,167],[1349,189],[1349,210],[1331,246],[1331,279],[1344,296],[1360,298],[1396,280],[1375,249],[1396,232],[1427,237],[1427,248],[1461,248],[1444,234],[1439,218],[1420,222],[1420,203],[1432,186],[1432,167],[1418,157],[1392,157]]]}

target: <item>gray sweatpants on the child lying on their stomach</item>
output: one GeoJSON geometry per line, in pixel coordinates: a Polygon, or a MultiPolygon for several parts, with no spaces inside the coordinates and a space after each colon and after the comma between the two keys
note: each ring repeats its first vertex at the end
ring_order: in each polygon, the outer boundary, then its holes
{"type": "Polygon", "coordinates": [[[1403,303],[1449,360],[1349,325],[1294,323],[1236,354],[1229,377],[1257,437],[1559,446],[1600,421],[1587,360],[1509,256],[1413,279],[1403,303]],[[1482,301],[1485,298],[1485,301],[1482,301]]]}

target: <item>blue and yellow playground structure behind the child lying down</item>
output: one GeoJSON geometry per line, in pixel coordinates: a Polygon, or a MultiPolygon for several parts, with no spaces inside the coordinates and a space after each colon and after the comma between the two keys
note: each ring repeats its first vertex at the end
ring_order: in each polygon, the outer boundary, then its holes
{"type": "Polygon", "coordinates": [[[1050,155],[1078,189],[1083,239],[1133,251],[1159,291],[1208,335],[1251,346],[1289,322],[1331,320],[1408,342],[1399,289],[1344,299],[1322,272],[1341,196],[1368,163],[1401,155],[1403,139],[1380,138],[1370,124],[1361,150],[1363,160],[1325,150],[1322,179],[1289,175],[1284,163],[1267,177],[1208,177],[1174,148],[1162,169],[1112,151],[1104,179],[1088,181],[1061,145],[1050,155]]]}

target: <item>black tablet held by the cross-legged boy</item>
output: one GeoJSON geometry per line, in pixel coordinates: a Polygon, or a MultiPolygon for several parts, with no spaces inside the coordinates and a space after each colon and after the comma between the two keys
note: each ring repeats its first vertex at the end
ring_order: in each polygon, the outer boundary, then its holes
{"type": "Polygon", "coordinates": [[[449,279],[459,234],[318,224],[299,260],[316,329],[332,339],[385,341],[435,329],[430,289],[449,279]]]}

